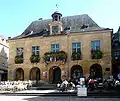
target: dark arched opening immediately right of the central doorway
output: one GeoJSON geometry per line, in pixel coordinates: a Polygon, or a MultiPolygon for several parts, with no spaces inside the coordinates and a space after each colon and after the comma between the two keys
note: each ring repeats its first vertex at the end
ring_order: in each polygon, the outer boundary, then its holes
{"type": "Polygon", "coordinates": [[[74,65],[71,68],[71,80],[76,81],[83,77],[83,69],[80,65],[74,65]]]}

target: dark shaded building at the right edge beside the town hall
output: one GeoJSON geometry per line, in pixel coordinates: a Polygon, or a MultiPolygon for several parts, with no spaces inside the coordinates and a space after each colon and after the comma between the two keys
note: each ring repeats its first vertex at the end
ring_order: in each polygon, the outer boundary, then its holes
{"type": "Polygon", "coordinates": [[[112,74],[116,77],[120,73],[120,27],[112,38],[112,74]]]}

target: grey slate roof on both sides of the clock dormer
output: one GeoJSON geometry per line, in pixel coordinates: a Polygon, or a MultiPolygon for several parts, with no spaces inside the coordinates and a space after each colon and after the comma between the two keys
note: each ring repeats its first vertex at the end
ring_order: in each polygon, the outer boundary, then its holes
{"type": "MultiPolygon", "coordinates": [[[[33,21],[21,35],[11,39],[49,35],[49,24],[51,22],[52,19],[33,21]]],[[[61,22],[63,24],[63,33],[67,30],[70,30],[70,33],[104,30],[104,28],[99,27],[87,14],[62,17],[61,22]]]]}

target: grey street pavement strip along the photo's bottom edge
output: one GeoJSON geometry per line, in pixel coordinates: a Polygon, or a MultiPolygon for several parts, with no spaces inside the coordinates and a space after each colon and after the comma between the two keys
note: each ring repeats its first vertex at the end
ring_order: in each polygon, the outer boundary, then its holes
{"type": "Polygon", "coordinates": [[[0,101],[120,101],[120,98],[79,98],[41,96],[0,96],[0,101]]]}

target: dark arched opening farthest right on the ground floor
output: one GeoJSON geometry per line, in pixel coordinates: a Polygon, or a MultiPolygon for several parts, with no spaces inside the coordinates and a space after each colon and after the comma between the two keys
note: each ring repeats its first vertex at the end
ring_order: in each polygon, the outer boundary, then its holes
{"type": "Polygon", "coordinates": [[[96,78],[102,78],[102,67],[100,64],[93,64],[90,67],[90,78],[96,79],[96,78]]]}

